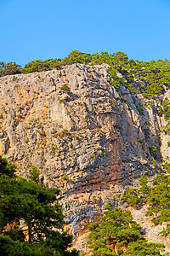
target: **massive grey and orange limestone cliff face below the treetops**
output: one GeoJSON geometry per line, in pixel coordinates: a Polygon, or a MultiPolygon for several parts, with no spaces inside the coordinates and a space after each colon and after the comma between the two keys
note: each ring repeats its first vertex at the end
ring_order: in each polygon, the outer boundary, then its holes
{"type": "Polygon", "coordinates": [[[65,228],[78,248],[86,247],[87,226],[106,201],[118,206],[141,172],[155,172],[150,148],[157,148],[157,169],[164,152],[156,106],[126,84],[118,94],[108,67],[74,64],[0,79],[0,153],[23,177],[36,165],[45,183],[61,189],[65,228]]]}

